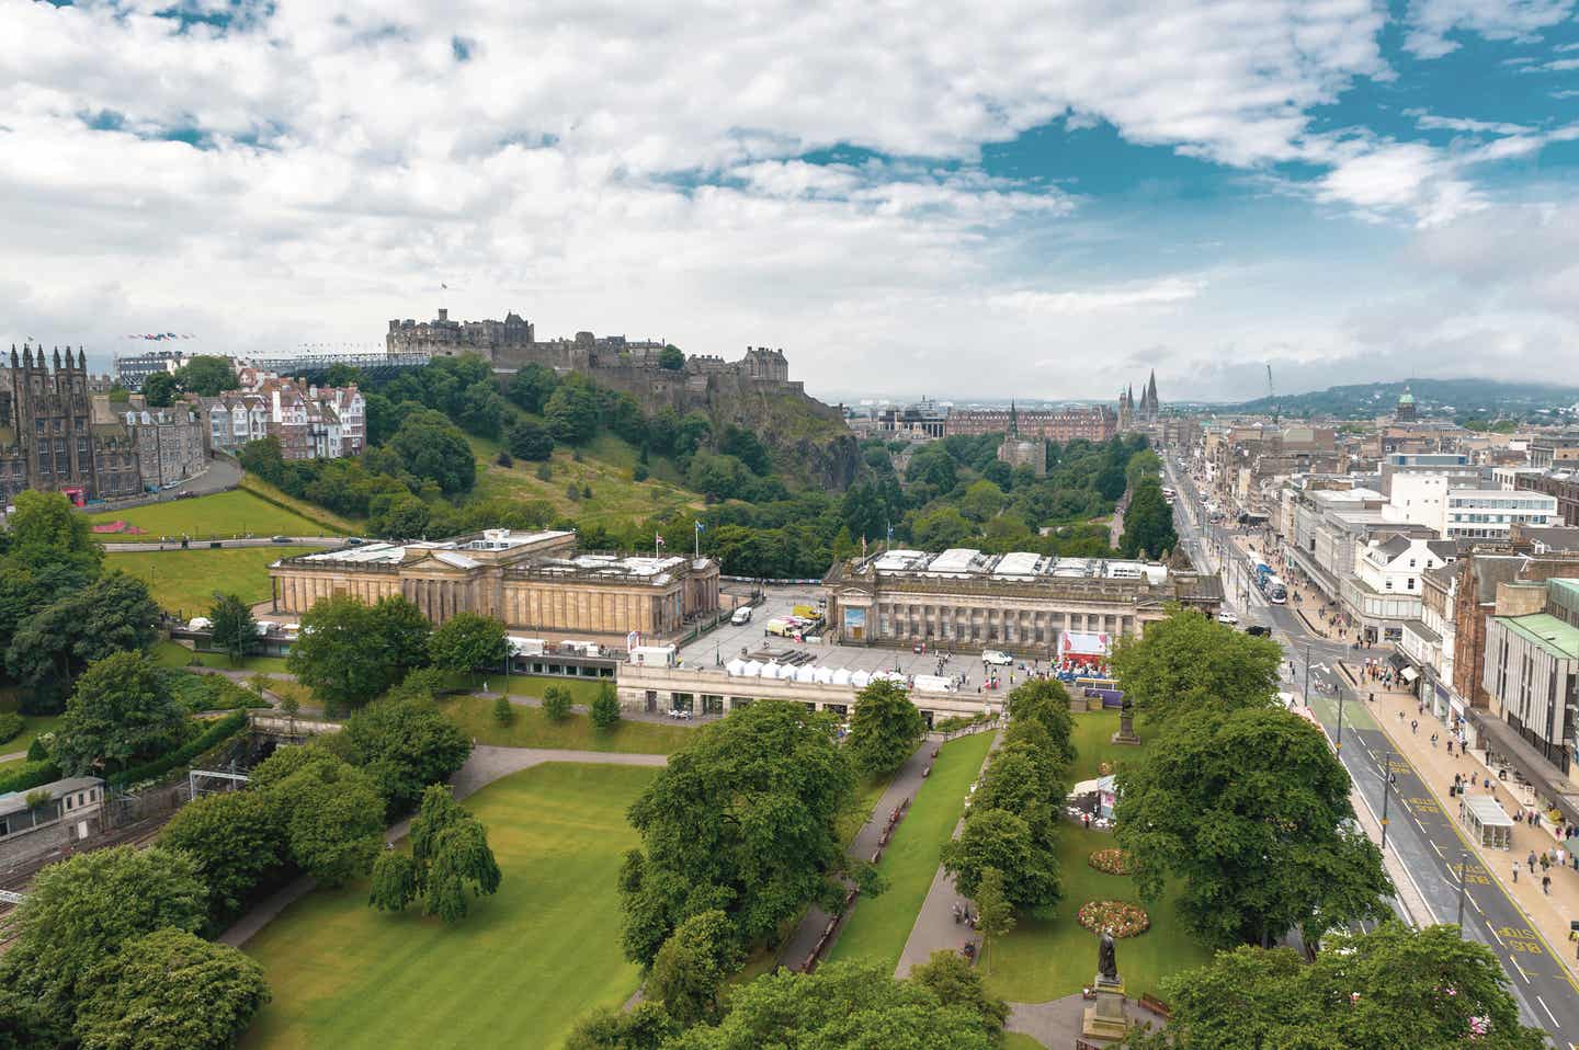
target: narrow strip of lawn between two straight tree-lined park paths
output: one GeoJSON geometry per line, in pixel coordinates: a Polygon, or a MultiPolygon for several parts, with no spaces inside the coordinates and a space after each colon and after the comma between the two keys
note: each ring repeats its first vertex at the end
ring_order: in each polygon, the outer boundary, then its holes
{"type": "Polygon", "coordinates": [[[938,873],[938,856],[954,835],[965,808],[965,793],[981,772],[992,745],[992,733],[973,733],[949,741],[911,801],[910,813],[894,829],[894,838],[878,864],[889,879],[881,897],[861,898],[829,958],[870,958],[887,968],[898,957],[916,925],[916,913],[927,900],[938,873]]]}

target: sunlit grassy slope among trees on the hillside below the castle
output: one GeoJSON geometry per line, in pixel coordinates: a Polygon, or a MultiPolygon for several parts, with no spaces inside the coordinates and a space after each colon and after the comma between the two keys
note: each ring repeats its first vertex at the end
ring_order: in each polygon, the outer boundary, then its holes
{"type": "Polygon", "coordinates": [[[546,482],[537,477],[542,464],[516,459],[515,466],[501,467],[499,442],[482,437],[469,441],[477,453],[478,497],[542,499],[553,505],[556,515],[587,524],[624,523],[668,513],[677,507],[699,510],[704,505],[701,496],[682,486],[682,478],[666,459],[654,458],[647,464],[647,480],[633,480],[638,453],[613,434],[598,434],[592,439],[581,450],[579,463],[572,448],[554,448],[554,455],[548,459],[551,477],[546,482]],[[572,485],[578,493],[591,488],[592,496],[570,499],[572,485]]]}

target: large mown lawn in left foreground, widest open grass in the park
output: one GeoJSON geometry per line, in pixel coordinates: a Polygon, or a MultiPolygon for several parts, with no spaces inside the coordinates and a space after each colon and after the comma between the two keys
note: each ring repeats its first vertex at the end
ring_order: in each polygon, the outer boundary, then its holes
{"type": "Polygon", "coordinates": [[[638,845],[625,808],[655,774],[549,764],[467,799],[504,883],[459,925],[374,911],[366,883],[297,902],[246,946],[273,1001],[242,1047],[557,1047],[636,988],[616,875],[638,845]]]}

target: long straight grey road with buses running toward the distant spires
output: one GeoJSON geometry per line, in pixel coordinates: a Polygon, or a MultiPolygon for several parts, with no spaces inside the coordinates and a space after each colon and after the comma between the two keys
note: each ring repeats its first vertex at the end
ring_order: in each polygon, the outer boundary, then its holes
{"type": "Polygon", "coordinates": [[[1241,627],[1260,624],[1273,628],[1273,638],[1293,663],[1292,673],[1288,663],[1284,665],[1284,688],[1301,703],[1309,696],[1311,711],[1337,747],[1364,804],[1377,818],[1388,813],[1386,851],[1401,862],[1405,878],[1418,887],[1431,913],[1415,916],[1415,921],[1457,922],[1462,913],[1467,936],[1487,944],[1503,963],[1525,1022],[1544,1028],[1558,1045],[1574,1047],[1579,1041],[1579,984],[1555,955],[1554,946],[1532,928],[1533,922],[1502,881],[1480,862],[1415,766],[1394,750],[1369,711],[1364,698],[1369,690],[1355,688],[1337,666],[1341,660],[1356,665],[1367,655],[1385,652],[1355,651],[1345,643],[1314,635],[1290,606],[1271,605],[1254,584],[1246,584],[1251,562],[1233,542],[1233,531],[1205,521],[1194,480],[1176,471],[1172,459],[1167,461],[1167,474],[1178,493],[1175,519],[1186,551],[1197,565],[1224,572],[1224,594],[1236,606],[1241,627]],[[1391,772],[1397,780],[1383,801],[1382,764],[1390,752],[1391,772]]]}

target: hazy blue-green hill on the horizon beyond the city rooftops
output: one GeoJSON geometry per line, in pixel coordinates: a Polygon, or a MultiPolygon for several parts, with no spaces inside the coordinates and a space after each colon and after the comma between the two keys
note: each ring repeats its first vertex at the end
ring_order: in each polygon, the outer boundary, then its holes
{"type": "Polygon", "coordinates": [[[1565,411],[1579,403],[1579,387],[1538,382],[1492,382],[1489,379],[1410,379],[1408,382],[1364,382],[1328,387],[1309,393],[1257,398],[1214,406],[1233,412],[1282,412],[1285,417],[1372,418],[1388,415],[1404,388],[1415,395],[1421,417],[1533,417],[1543,411],[1565,411]]]}

